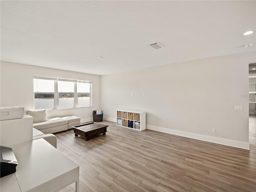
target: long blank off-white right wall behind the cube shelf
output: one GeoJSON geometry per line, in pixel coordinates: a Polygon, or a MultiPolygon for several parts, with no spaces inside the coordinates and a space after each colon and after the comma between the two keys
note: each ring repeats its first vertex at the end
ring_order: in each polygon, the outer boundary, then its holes
{"type": "Polygon", "coordinates": [[[246,52],[102,76],[104,118],[116,121],[117,109],[146,111],[147,129],[249,148],[248,64],[255,60],[246,52]]]}

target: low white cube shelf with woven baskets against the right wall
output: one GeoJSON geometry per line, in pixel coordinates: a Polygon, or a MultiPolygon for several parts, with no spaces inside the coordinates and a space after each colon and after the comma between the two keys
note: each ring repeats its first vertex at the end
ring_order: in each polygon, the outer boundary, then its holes
{"type": "Polygon", "coordinates": [[[142,131],[146,129],[146,112],[116,110],[116,125],[142,131]]]}

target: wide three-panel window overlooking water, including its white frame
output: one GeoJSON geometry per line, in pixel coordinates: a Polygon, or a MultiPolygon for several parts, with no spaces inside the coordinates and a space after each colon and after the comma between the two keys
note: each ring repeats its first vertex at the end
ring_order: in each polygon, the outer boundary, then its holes
{"type": "Polygon", "coordinates": [[[34,76],[34,108],[91,106],[91,90],[90,81],[34,76]]]}

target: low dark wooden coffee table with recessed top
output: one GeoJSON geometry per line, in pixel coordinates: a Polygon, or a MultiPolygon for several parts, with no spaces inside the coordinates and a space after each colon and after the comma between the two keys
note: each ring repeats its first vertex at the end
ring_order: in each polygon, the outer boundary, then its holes
{"type": "Polygon", "coordinates": [[[90,137],[101,134],[106,135],[108,125],[103,125],[99,123],[88,123],[77,126],[72,126],[74,128],[75,136],[82,136],[86,138],[86,141],[90,140],[90,137]]]}

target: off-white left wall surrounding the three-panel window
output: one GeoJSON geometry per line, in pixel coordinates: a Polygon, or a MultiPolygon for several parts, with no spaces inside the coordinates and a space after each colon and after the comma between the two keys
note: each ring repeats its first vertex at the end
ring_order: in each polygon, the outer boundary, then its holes
{"type": "Polygon", "coordinates": [[[25,110],[34,109],[33,74],[53,77],[92,80],[93,106],[48,110],[48,118],[74,115],[81,121],[92,120],[92,110],[100,109],[100,76],[52,68],[30,66],[1,61],[0,63],[0,106],[23,106],[25,110]]]}

